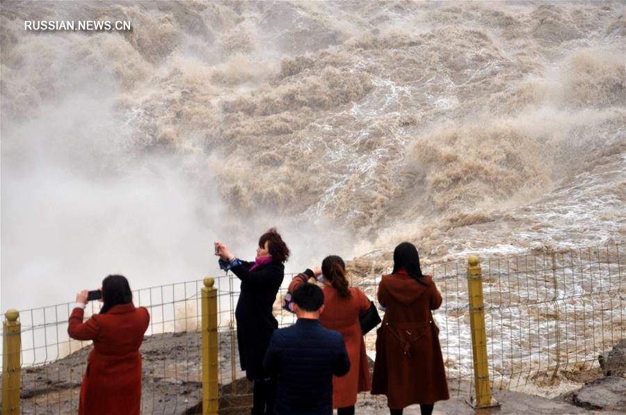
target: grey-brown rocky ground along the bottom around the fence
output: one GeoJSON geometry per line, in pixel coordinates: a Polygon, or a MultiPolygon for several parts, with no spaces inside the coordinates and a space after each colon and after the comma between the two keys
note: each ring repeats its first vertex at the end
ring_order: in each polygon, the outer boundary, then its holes
{"type": "MultiPolygon", "coordinates": [[[[230,332],[220,333],[220,414],[249,414],[250,383],[243,377],[230,332]],[[235,378],[236,382],[232,382],[235,378]]],[[[166,333],[147,337],[143,354],[143,414],[200,414],[202,384],[200,372],[200,333],[166,333]],[[193,350],[193,352],[189,352],[193,350]]],[[[72,414],[77,412],[81,376],[89,348],[52,364],[22,371],[22,411],[25,414],[72,414]]],[[[488,414],[623,414],[626,412],[626,341],[600,357],[604,376],[577,390],[554,399],[508,390],[495,390],[500,403],[488,414]]],[[[451,399],[438,402],[435,414],[474,414],[467,403],[470,383],[451,381],[451,399]]],[[[385,397],[361,393],[357,414],[388,414],[385,397]]],[[[405,414],[419,414],[419,405],[405,414]]]]}

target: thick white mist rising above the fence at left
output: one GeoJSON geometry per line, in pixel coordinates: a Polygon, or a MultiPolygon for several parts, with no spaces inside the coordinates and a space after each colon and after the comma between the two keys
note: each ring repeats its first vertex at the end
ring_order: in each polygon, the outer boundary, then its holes
{"type": "Polygon", "coordinates": [[[129,154],[112,104],[111,97],[72,95],[3,131],[2,304],[70,302],[115,273],[134,288],[222,275],[214,241],[253,260],[259,236],[273,226],[300,267],[318,264],[335,245],[339,233],[319,234],[320,224],[296,229],[270,211],[234,214],[209,163],[129,154]]]}

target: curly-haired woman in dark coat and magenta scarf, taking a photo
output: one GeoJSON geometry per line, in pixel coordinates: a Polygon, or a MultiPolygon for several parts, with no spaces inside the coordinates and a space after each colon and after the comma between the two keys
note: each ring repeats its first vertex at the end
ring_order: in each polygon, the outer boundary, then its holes
{"type": "Polygon", "coordinates": [[[226,245],[216,242],[220,268],[232,270],[241,279],[241,292],[235,310],[237,345],[241,369],[255,382],[252,414],[272,414],[276,380],[263,368],[265,352],[278,321],[272,314],[278,288],[284,277],[289,248],[275,228],[259,238],[255,262],[241,261],[226,245]]]}

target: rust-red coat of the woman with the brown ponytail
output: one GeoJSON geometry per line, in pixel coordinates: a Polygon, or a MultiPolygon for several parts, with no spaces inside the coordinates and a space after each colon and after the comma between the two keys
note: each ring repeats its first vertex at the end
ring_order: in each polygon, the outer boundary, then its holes
{"type": "MultiPolygon", "coordinates": [[[[304,276],[300,274],[298,277],[304,276]]],[[[302,278],[294,278],[289,284],[289,292],[293,293],[303,283],[302,278]]],[[[365,354],[365,341],[361,332],[359,315],[369,309],[369,299],[357,287],[350,287],[352,296],[344,298],[339,296],[332,286],[325,286],[324,311],[319,316],[321,325],[327,329],[336,330],[344,336],[344,343],[350,358],[350,371],[346,375],[332,377],[332,407],[349,407],[356,403],[357,393],[369,391],[369,367],[365,354]]]]}

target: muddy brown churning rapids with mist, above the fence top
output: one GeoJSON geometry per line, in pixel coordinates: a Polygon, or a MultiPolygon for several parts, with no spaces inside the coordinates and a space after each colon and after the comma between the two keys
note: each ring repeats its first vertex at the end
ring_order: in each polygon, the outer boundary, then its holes
{"type": "MultiPolygon", "coordinates": [[[[1,302],[216,272],[278,225],[428,260],[625,241],[616,2],[1,5],[1,302]],[[132,31],[24,30],[130,20],[132,31]]],[[[249,255],[248,255],[249,254],[249,255]]]]}

